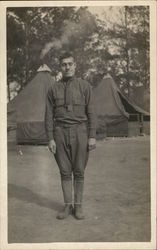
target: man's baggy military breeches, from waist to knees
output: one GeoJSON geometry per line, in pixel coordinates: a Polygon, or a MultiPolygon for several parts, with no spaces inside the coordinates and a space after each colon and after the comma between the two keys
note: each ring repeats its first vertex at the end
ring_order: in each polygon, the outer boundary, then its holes
{"type": "Polygon", "coordinates": [[[54,130],[56,142],[55,159],[61,179],[83,181],[88,161],[88,131],[86,124],[71,127],[56,126],[54,130]]]}

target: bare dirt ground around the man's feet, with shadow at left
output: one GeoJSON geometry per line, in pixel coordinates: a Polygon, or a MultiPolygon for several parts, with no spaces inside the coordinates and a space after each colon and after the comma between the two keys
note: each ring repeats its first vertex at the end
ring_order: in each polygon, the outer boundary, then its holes
{"type": "Polygon", "coordinates": [[[97,142],[85,174],[86,219],[57,220],[63,197],[46,146],[8,150],[8,241],[150,241],[149,137],[97,142]]]}

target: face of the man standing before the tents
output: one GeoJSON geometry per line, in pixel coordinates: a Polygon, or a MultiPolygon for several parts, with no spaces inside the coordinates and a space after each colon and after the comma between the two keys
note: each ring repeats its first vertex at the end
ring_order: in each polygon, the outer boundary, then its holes
{"type": "Polygon", "coordinates": [[[75,75],[76,63],[73,57],[63,58],[61,61],[61,70],[63,77],[72,77],[75,75]]]}

